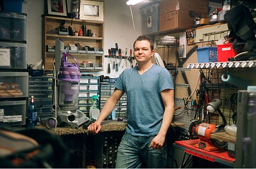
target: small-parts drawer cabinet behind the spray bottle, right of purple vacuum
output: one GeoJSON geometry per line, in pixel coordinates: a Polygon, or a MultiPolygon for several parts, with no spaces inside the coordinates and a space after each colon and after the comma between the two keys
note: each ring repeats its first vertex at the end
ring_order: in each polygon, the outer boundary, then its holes
{"type": "MultiPolygon", "coordinates": [[[[78,94],[78,110],[89,117],[92,96],[100,94],[100,77],[81,76],[78,94]]],[[[97,101],[98,107],[100,101],[97,101]]]]}

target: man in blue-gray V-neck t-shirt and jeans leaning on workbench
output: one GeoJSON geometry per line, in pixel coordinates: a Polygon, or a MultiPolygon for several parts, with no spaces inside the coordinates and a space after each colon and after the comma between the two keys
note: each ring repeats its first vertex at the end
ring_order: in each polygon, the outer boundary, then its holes
{"type": "Polygon", "coordinates": [[[140,36],[133,44],[138,66],[125,69],[95,123],[88,131],[97,134],[108,117],[127,94],[126,132],[118,147],[117,168],[166,167],[165,137],[174,114],[174,88],[170,73],[152,63],[153,42],[140,36]],[[143,166],[145,167],[145,166],[143,166]]]}

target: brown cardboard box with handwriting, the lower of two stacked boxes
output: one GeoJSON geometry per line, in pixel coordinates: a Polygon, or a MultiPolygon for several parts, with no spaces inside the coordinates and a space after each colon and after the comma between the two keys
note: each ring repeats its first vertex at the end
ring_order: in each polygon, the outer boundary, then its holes
{"type": "Polygon", "coordinates": [[[189,10],[174,10],[160,15],[160,31],[188,29],[195,25],[196,17],[206,17],[207,13],[189,10]]]}

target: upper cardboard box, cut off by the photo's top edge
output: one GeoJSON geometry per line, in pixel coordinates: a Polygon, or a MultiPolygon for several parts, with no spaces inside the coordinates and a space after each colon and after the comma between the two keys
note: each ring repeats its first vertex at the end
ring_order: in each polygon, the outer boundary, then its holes
{"type": "Polygon", "coordinates": [[[174,10],[192,10],[208,13],[209,0],[161,0],[160,15],[174,10]]]}

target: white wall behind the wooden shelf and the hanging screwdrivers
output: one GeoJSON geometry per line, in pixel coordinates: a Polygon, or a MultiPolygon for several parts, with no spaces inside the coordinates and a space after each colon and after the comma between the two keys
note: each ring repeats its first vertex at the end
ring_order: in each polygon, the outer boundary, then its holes
{"type": "MultiPolygon", "coordinates": [[[[133,5],[132,14],[135,22],[133,29],[130,7],[126,5],[127,0],[106,0],[104,2],[105,31],[104,31],[104,55],[108,55],[108,49],[115,47],[132,49],[133,42],[141,35],[141,14],[139,8],[143,3],[133,5]]],[[[67,1],[68,12],[71,8],[71,0],[67,1]]],[[[42,14],[44,14],[44,1],[25,0],[22,5],[22,13],[27,14],[27,64],[34,64],[43,57],[42,46],[42,14]]],[[[94,73],[95,75],[108,75],[107,58],[104,60],[104,72],[94,73]]],[[[124,67],[125,68],[125,67],[124,67]]],[[[121,73],[112,70],[110,77],[118,77],[121,73]]]]}

